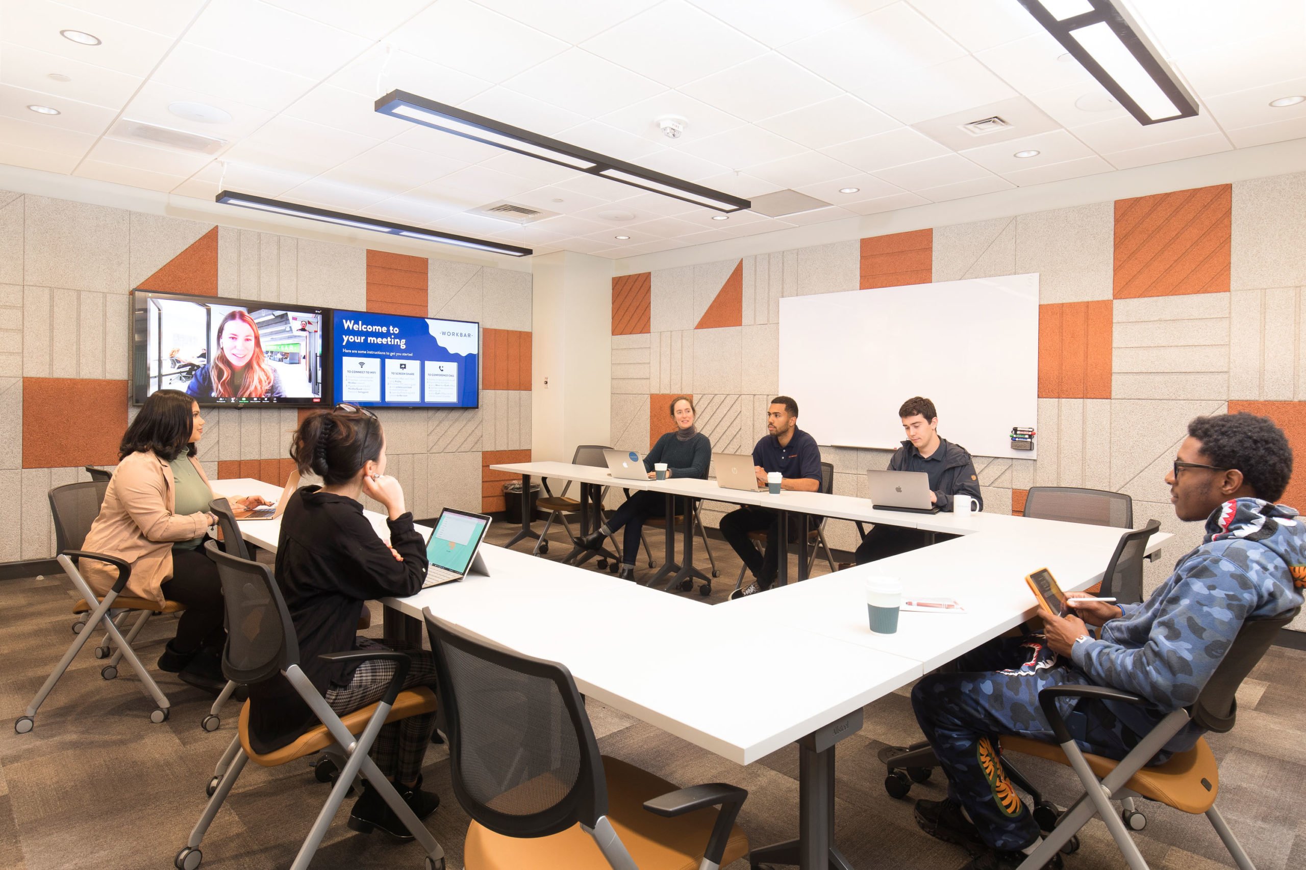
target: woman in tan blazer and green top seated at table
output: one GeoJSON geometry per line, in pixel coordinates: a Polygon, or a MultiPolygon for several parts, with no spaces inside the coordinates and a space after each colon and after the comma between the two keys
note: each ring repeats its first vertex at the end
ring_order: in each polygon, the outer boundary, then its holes
{"type": "MultiPolygon", "coordinates": [[[[209,479],[195,458],[202,437],[200,406],[185,393],[155,390],[145,399],[123,434],[118,468],[82,549],[131,566],[123,595],[185,605],[158,668],[218,693],[227,683],[219,664],[227,635],[218,569],[202,547],[217,522],[209,513],[209,479]]],[[[266,503],[261,496],[230,501],[251,509],[266,503]]],[[[86,560],[81,571],[97,595],[118,580],[118,571],[104,562],[86,560]]]]}

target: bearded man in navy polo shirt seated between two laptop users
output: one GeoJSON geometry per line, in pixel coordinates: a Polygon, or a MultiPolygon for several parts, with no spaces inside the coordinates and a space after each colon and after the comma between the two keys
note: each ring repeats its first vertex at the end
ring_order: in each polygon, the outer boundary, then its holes
{"type": "MultiPolygon", "coordinates": [[[[752,449],[757,485],[767,485],[767,473],[778,471],[781,489],[816,492],[820,489],[820,447],[816,440],[798,428],[798,403],[777,395],[767,410],[767,434],[752,449]]],[[[780,514],[767,507],[744,505],[721,518],[721,536],[734,548],[756,578],[737,590],[731,599],[764,592],[776,582],[780,557],[780,514]],[[748,540],[748,532],[767,532],[765,553],[748,540]]]]}

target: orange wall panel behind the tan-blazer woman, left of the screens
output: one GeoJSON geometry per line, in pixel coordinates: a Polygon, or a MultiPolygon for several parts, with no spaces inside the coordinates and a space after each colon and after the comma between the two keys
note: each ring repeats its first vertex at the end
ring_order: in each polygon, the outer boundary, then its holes
{"type": "Polygon", "coordinates": [[[22,378],[22,467],[116,466],[127,381],[22,378]]]}

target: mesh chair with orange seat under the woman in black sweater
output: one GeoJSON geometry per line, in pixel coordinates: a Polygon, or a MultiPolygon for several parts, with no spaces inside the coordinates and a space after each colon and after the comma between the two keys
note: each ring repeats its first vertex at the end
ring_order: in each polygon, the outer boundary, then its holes
{"type": "Polygon", "coordinates": [[[337,777],[326,802],[304,837],[291,870],[306,870],[317,852],[332,818],[340,810],[345,794],[359,775],[367,777],[387,805],[417,837],[426,850],[426,869],[444,870],[444,850],[435,841],[426,826],[418,820],[394,787],[385,779],[381,770],[368,755],[381,725],[418,713],[435,710],[435,695],[426,686],[401,690],[407,677],[411,659],[394,650],[350,650],[328,652],[321,656],[328,661],[367,661],[385,659],[394,663],[394,677],[385,697],[375,704],[368,704],[354,712],[340,716],[323,699],[313,683],[299,667],[299,642],[290,612],[281,597],[281,590],[272,577],[272,569],[259,562],[251,562],[218,549],[214,541],[204,545],[209,558],[218,566],[222,579],[222,597],[227,617],[227,646],[222,652],[222,672],[236,683],[255,685],[272,680],[277,674],[286,678],[293,689],[321,723],[308,729],[296,740],[270,753],[257,753],[249,745],[249,702],[240,710],[240,725],[231,745],[223,755],[227,763],[225,772],[214,787],[210,783],[209,802],[199,822],[191,831],[187,844],[176,853],[172,863],[178,870],[196,870],[202,861],[200,844],[213,823],[222,802],[248,760],[263,767],[279,767],[298,758],[329,750],[341,759],[341,775],[337,777]],[[347,760],[345,760],[347,759],[347,760]]]}

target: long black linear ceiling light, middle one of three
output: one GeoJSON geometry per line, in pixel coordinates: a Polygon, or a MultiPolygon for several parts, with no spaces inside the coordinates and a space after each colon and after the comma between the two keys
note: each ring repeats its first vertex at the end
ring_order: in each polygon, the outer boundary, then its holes
{"type": "Polygon", "coordinates": [[[464,138],[485,142],[502,147],[505,151],[516,151],[539,160],[547,160],[559,166],[571,167],[579,172],[588,172],[622,184],[652,190],[666,197],[674,197],[693,205],[701,205],[717,211],[741,211],[750,207],[747,200],[721,193],[712,188],[705,188],[691,181],[683,181],[670,175],[662,175],[653,170],[605,157],[567,142],[539,136],[520,127],[504,124],[490,117],[474,115],[471,112],[436,103],[435,100],[409,94],[402,90],[392,90],[385,97],[376,100],[376,111],[383,115],[400,117],[405,121],[422,124],[444,133],[453,133],[464,138]]]}

